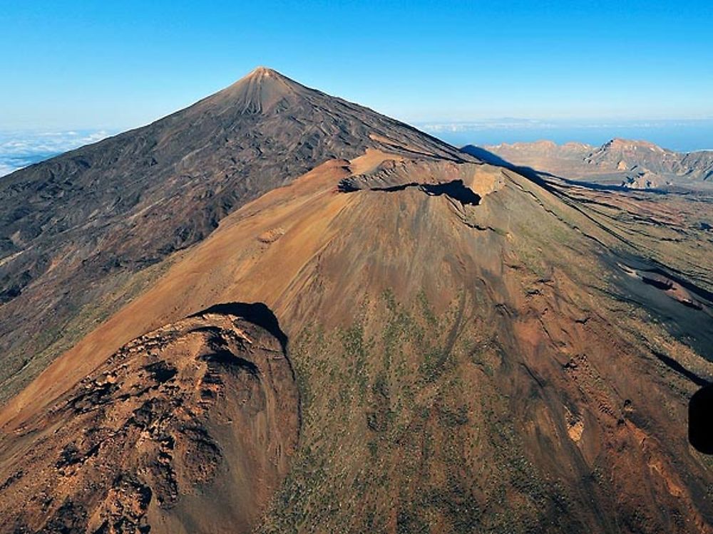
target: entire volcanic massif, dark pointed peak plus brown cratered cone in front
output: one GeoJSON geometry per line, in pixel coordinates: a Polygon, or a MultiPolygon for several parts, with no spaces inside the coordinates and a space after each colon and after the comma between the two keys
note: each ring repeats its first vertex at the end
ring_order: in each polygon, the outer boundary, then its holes
{"type": "Polygon", "coordinates": [[[265,68],[2,191],[3,531],[713,532],[707,197],[265,68]]]}

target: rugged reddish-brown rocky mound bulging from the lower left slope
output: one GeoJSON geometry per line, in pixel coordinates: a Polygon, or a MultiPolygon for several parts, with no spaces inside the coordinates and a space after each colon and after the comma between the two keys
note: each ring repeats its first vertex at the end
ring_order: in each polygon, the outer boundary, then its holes
{"type": "Polygon", "coordinates": [[[286,341],[224,304],[128,342],[3,440],[1,530],[248,530],[297,446],[286,341]]]}

